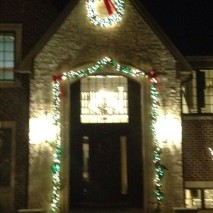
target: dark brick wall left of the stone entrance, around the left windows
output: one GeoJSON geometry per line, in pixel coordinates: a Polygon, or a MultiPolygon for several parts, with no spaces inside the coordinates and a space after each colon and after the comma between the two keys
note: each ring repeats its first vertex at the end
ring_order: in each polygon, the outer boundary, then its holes
{"type": "MultiPolygon", "coordinates": [[[[0,23],[22,24],[22,54],[20,54],[22,57],[26,56],[41,38],[57,15],[58,11],[49,0],[0,1],[0,23]]],[[[13,147],[15,149],[15,162],[13,162],[15,182],[12,192],[14,193],[14,207],[12,207],[14,211],[12,212],[15,212],[15,209],[27,208],[28,205],[29,76],[17,75],[17,83],[2,84],[0,82],[0,122],[16,123],[16,144],[13,147]]],[[[7,212],[6,209],[2,211],[7,212]]]]}

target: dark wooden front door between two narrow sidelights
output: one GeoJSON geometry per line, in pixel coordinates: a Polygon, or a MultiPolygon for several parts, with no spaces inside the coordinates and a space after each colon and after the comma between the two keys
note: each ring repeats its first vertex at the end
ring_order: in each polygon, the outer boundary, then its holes
{"type": "Polygon", "coordinates": [[[119,136],[107,131],[89,137],[88,196],[95,202],[115,202],[120,195],[119,136]]]}

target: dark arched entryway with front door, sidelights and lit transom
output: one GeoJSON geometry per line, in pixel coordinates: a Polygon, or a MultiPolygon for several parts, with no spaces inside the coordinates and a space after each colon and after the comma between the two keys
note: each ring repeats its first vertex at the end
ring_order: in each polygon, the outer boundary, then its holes
{"type": "Polygon", "coordinates": [[[142,207],[140,93],[139,83],[112,74],[70,85],[70,208],[142,207]]]}

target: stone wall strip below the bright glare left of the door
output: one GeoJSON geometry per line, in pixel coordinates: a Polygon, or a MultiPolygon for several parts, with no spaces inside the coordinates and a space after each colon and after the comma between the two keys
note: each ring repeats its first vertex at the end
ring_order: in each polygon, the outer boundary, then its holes
{"type": "Polygon", "coordinates": [[[51,199],[52,148],[47,143],[31,144],[29,159],[29,206],[48,209],[51,199]]]}

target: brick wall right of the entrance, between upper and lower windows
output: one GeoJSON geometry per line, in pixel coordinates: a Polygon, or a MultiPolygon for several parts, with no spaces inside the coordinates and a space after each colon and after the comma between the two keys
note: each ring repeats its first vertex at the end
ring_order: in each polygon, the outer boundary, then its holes
{"type": "Polygon", "coordinates": [[[185,181],[212,181],[213,117],[183,117],[183,162],[185,181]]]}

